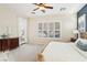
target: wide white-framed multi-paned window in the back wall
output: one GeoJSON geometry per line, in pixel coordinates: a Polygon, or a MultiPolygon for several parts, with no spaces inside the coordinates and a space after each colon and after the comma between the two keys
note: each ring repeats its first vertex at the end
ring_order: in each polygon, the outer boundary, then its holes
{"type": "Polygon", "coordinates": [[[39,22],[39,37],[61,37],[61,22],[39,22]]]}

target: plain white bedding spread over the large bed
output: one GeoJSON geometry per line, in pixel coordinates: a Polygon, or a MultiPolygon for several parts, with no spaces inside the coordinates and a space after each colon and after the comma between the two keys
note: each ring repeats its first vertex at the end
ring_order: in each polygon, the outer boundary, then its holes
{"type": "MultiPolygon", "coordinates": [[[[45,62],[86,62],[84,52],[80,52],[74,43],[51,42],[43,51],[45,62]],[[80,54],[83,53],[84,56],[80,54]]],[[[87,55],[86,55],[87,57],[87,55]]]]}

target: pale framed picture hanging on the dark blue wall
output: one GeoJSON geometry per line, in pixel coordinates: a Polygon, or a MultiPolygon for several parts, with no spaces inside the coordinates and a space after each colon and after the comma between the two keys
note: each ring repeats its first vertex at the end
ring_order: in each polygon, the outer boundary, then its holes
{"type": "Polygon", "coordinates": [[[78,18],[78,31],[86,32],[86,14],[78,18]]]}

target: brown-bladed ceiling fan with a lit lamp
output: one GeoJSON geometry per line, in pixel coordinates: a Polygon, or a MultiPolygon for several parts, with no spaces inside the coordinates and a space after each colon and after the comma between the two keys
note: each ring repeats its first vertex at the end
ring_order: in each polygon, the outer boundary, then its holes
{"type": "Polygon", "coordinates": [[[36,10],[41,10],[43,13],[45,13],[45,9],[53,9],[53,7],[48,6],[47,3],[33,3],[36,6],[36,9],[33,10],[32,13],[35,13],[36,10]]]}

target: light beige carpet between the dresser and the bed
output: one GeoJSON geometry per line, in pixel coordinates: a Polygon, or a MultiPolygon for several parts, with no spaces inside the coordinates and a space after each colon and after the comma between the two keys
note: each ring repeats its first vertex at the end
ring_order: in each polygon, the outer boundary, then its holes
{"type": "Polygon", "coordinates": [[[43,45],[23,44],[12,51],[0,52],[2,62],[35,62],[36,54],[42,51],[43,45]]]}

